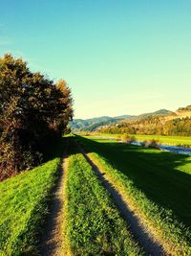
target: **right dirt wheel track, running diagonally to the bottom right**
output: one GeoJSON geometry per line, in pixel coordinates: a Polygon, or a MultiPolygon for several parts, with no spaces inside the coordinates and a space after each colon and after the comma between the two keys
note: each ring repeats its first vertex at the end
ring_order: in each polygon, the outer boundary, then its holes
{"type": "Polygon", "coordinates": [[[161,244],[156,242],[152,235],[148,232],[148,230],[143,226],[142,222],[127,205],[127,203],[123,200],[122,196],[116,190],[114,185],[110,183],[104,176],[104,173],[98,169],[96,164],[93,160],[86,154],[85,151],[79,146],[80,150],[82,151],[83,155],[89,162],[89,164],[93,167],[93,170],[96,172],[98,178],[102,181],[105,188],[111,193],[112,197],[114,198],[115,204],[120,212],[121,217],[128,222],[130,226],[130,230],[138,241],[138,244],[143,247],[146,255],[152,256],[160,256],[166,255],[163,251],[161,244]]]}

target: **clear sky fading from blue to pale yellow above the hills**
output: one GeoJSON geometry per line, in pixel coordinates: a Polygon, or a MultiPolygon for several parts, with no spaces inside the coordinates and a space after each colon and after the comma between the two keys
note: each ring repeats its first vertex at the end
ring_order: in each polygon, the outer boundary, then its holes
{"type": "Polygon", "coordinates": [[[190,0],[0,3],[0,55],[68,81],[76,118],[191,104],[190,0]]]}

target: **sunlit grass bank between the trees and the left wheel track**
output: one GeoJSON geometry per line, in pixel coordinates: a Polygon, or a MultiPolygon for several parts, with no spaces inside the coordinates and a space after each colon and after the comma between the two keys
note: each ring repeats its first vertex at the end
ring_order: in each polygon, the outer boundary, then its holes
{"type": "Polygon", "coordinates": [[[61,152],[62,147],[49,162],[0,183],[1,256],[37,254],[61,152]]]}

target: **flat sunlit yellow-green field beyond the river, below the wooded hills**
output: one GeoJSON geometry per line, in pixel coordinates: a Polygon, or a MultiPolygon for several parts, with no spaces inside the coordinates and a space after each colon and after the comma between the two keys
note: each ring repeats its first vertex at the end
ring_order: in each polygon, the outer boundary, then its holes
{"type": "MultiPolygon", "coordinates": [[[[121,134],[106,134],[101,133],[97,134],[99,136],[106,136],[111,138],[117,138],[121,134]]],[[[191,137],[185,137],[185,136],[161,136],[161,135],[134,135],[138,141],[144,141],[144,140],[158,140],[161,144],[166,145],[173,145],[173,146],[190,146],[191,147],[191,137]]]]}

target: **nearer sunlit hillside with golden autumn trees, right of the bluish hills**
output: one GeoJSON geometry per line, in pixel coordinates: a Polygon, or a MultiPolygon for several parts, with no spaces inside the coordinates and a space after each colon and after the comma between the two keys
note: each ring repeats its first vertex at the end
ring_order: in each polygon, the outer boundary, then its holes
{"type": "Polygon", "coordinates": [[[172,112],[159,109],[117,121],[117,125],[97,128],[106,133],[161,134],[191,136],[191,105],[172,112]]]}

